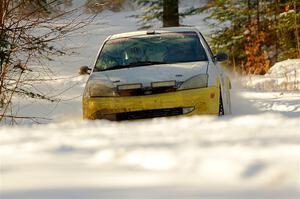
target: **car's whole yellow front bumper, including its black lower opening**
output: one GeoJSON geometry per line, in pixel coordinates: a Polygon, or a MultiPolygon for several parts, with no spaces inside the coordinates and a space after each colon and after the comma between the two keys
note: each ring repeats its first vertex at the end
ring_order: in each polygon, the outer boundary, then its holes
{"type": "Polygon", "coordinates": [[[83,118],[118,121],[179,115],[218,115],[219,98],[220,89],[217,86],[143,96],[84,97],[83,118]],[[191,111],[185,113],[185,108],[191,111]]]}

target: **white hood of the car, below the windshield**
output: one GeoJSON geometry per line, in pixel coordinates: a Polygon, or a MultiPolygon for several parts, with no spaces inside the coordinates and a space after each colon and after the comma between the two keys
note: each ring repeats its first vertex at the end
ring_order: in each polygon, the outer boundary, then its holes
{"type": "Polygon", "coordinates": [[[150,86],[151,82],[170,81],[183,82],[195,75],[207,73],[208,62],[189,62],[176,64],[160,64],[94,72],[90,80],[102,80],[113,86],[141,83],[150,86]]]}

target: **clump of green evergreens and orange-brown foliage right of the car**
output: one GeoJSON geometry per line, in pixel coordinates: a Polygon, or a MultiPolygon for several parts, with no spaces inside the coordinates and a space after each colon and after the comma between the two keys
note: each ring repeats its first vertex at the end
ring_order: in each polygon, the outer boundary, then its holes
{"type": "Polygon", "coordinates": [[[296,0],[209,0],[194,13],[209,11],[215,51],[227,51],[229,65],[244,73],[264,74],[276,61],[299,53],[296,0]],[[298,38],[298,39],[297,39],[298,38]]]}

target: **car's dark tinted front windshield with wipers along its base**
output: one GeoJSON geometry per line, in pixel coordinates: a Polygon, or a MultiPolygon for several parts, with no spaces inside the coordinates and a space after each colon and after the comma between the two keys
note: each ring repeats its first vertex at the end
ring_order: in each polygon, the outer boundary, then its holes
{"type": "Polygon", "coordinates": [[[197,33],[162,33],[107,41],[94,71],[196,61],[207,61],[197,33]]]}

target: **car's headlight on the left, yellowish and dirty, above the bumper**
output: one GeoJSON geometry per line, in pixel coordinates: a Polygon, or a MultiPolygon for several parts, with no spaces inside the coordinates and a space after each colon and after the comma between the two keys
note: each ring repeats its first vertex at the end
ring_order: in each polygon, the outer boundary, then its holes
{"type": "Polygon", "coordinates": [[[96,82],[90,82],[88,84],[88,94],[90,97],[118,96],[118,93],[115,91],[115,89],[96,82]]]}

